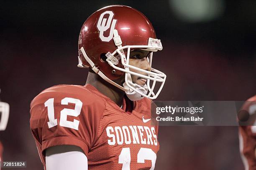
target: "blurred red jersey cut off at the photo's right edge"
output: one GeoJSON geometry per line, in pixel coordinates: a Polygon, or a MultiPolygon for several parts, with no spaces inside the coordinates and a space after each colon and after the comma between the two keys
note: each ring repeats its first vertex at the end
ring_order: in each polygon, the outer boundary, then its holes
{"type": "MultiPolygon", "coordinates": [[[[242,109],[247,110],[250,115],[256,114],[256,95],[248,99],[242,109]]],[[[239,142],[245,169],[256,170],[256,126],[239,126],[239,142]]]]}

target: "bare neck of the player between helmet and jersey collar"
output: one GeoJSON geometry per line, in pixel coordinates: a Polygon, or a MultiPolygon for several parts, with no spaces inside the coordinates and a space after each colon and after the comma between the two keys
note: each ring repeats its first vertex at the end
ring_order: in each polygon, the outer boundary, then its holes
{"type": "Polygon", "coordinates": [[[123,104],[123,97],[125,92],[120,90],[118,87],[111,85],[110,83],[103,80],[99,75],[89,72],[86,84],[90,84],[97,88],[103,95],[109,97],[119,107],[123,104]]]}

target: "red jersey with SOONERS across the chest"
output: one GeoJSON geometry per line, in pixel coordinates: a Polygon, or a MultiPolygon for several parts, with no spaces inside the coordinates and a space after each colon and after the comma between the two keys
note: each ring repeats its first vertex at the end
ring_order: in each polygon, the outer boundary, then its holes
{"type": "Polygon", "coordinates": [[[151,100],[133,105],[124,97],[120,108],[89,84],[42,91],[31,102],[30,126],[44,168],[47,148],[76,145],[90,170],[153,170],[159,142],[151,100]]]}

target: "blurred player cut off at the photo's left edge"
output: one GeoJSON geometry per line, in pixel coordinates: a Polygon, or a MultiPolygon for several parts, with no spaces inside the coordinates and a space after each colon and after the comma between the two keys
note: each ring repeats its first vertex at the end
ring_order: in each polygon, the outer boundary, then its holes
{"type": "MultiPolygon", "coordinates": [[[[0,89],[0,93],[1,93],[1,89],[0,89]]],[[[7,122],[9,119],[9,104],[6,102],[1,102],[0,99],[0,131],[3,131],[6,129],[7,126],[7,122]]],[[[3,145],[0,141],[0,163],[3,161],[3,145]]],[[[0,166],[1,169],[1,166],[0,166]]]]}

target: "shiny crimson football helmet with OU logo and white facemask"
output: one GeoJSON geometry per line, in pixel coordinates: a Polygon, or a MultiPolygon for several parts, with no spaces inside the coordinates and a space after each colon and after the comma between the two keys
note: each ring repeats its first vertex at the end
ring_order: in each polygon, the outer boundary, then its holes
{"type": "Polygon", "coordinates": [[[103,7],[90,15],[82,25],[78,40],[78,67],[91,67],[104,80],[125,92],[136,92],[143,97],[155,99],[164,85],[166,75],[154,68],[148,71],[129,65],[130,51],[133,49],[151,51],[148,59],[150,66],[153,52],[162,50],[161,41],[156,39],[150,21],[132,7],[103,7]],[[138,74],[129,68],[144,74],[138,74]],[[124,74],[123,86],[113,81],[124,74]],[[147,80],[146,93],[136,88],[131,75],[147,80]],[[161,85],[159,90],[153,92],[156,82],[161,82],[161,85]]]}

